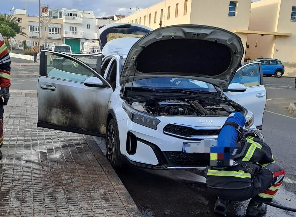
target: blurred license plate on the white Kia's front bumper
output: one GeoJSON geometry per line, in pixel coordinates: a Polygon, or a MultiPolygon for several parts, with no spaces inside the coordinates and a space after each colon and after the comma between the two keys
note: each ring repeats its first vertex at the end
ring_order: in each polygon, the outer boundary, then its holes
{"type": "Polygon", "coordinates": [[[217,140],[215,139],[204,139],[200,142],[184,142],[183,152],[184,153],[210,153],[210,147],[217,146],[217,140]]]}

